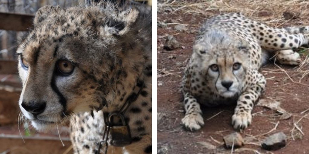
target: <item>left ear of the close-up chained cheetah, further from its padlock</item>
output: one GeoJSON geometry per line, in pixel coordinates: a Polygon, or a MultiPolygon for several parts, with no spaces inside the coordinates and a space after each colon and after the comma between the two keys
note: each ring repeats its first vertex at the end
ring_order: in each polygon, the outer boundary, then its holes
{"type": "Polygon", "coordinates": [[[35,25],[40,24],[46,18],[49,17],[50,14],[57,12],[60,10],[60,6],[43,6],[37,12],[36,16],[34,17],[33,23],[35,25]]]}

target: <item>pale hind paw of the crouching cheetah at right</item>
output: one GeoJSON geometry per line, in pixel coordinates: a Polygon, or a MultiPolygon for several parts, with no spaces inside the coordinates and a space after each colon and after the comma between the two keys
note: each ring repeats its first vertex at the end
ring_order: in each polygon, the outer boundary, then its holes
{"type": "Polygon", "coordinates": [[[277,54],[277,60],[280,64],[299,65],[302,62],[299,53],[293,50],[280,50],[277,54]]]}

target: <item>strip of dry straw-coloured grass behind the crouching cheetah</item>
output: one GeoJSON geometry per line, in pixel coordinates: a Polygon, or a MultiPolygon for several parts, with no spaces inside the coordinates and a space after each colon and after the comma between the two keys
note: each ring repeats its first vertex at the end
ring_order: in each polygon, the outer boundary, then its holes
{"type": "Polygon", "coordinates": [[[309,24],[309,1],[304,0],[220,0],[220,1],[164,1],[158,2],[158,11],[163,8],[171,8],[177,14],[202,14],[206,16],[218,15],[218,13],[241,12],[242,14],[259,21],[263,21],[272,27],[281,27],[287,23],[294,25],[309,24]],[[289,11],[295,13],[296,19],[286,20],[283,13],[289,11]]]}

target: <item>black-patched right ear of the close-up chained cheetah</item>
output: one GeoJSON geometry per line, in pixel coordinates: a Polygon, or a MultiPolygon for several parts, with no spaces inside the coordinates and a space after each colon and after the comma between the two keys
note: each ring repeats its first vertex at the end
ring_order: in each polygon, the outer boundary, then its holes
{"type": "Polygon", "coordinates": [[[132,24],[138,18],[139,11],[135,8],[130,8],[119,12],[115,17],[108,18],[101,27],[100,31],[103,31],[105,36],[109,35],[124,35],[131,28],[132,24]]]}

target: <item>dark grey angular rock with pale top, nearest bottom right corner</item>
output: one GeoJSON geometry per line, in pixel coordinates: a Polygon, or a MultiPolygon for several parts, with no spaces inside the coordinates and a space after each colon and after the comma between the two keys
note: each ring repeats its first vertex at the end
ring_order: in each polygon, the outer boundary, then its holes
{"type": "Polygon", "coordinates": [[[262,141],[261,146],[265,150],[278,150],[286,146],[286,135],[283,132],[270,135],[262,141]]]}

